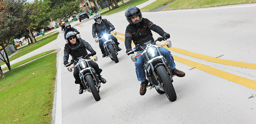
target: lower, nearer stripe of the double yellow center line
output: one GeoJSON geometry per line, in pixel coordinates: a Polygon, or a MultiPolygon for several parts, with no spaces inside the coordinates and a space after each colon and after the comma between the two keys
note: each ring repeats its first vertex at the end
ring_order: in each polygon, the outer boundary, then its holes
{"type": "MultiPolygon", "coordinates": [[[[115,37],[117,39],[121,40],[121,41],[124,41],[124,38],[120,38],[118,36],[115,36],[115,37]]],[[[134,45],[134,43],[132,43],[132,44],[134,45]]],[[[165,46],[164,48],[167,48],[167,47],[165,46]]],[[[184,50],[183,52],[185,52],[185,51],[186,50],[184,50]]],[[[194,67],[196,69],[199,69],[201,71],[207,72],[209,74],[213,74],[215,76],[219,76],[219,77],[221,77],[223,79],[226,79],[228,81],[232,81],[234,83],[238,83],[238,84],[241,84],[241,85],[246,86],[248,88],[256,90],[256,81],[254,81],[254,80],[246,79],[244,77],[237,76],[235,74],[231,74],[231,73],[228,73],[228,72],[224,72],[224,71],[221,71],[219,69],[215,69],[215,68],[209,67],[207,65],[201,64],[201,63],[197,63],[197,62],[193,62],[193,61],[190,61],[190,60],[186,60],[184,58],[181,58],[181,57],[178,57],[178,56],[175,56],[175,55],[172,55],[172,56],[174,57],[174,60],[177,61],[177,62],[181,62],[183,64],[186,64],[186,65],[189,65],[189,66],[194,67]]],[[[202,55],[202,56],[204,56],[204,55],[202,55]]],[[[222,59],[220,59],[220,60],[222,60],[222,59]]],[[[226,61],[229,61],[229,60],[226,60],[226,61]]],[[[233,61],[233,62],[235,62],[235,61],[233,61]]],[[[245,62],[243,62],[243,63],[245,63],[245,62]]]]}

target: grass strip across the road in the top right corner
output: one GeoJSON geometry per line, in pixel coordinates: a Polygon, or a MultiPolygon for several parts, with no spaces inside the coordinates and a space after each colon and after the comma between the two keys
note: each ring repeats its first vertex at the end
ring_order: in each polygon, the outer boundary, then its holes
{"type": "Polygon", "coordinates": [[[163,10],[205,8],[244,3],[256,3],[256,0],[176,0],[169,6],[165,7],[163,10]]]}

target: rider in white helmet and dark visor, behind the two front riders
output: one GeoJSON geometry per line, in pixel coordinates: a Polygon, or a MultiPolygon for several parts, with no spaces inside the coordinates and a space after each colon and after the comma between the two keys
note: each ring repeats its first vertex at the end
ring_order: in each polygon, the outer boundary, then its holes
{"type": "MultiPolygon", "coordinates": [[[[114,26],[107,19],[102,19],[101,15],[99,13],[94,14],[93,19],[95,21],[95,23],[92,24],[92,36],[93,36],[93,38],[96,37],[96,33],[97,33],[98,37],[101,38],[104,33],[109,33],[110,34],[110,32],[115,29],[114,26]]],[[[117,42],[117,38],[115,38],[113,35],[111,35],[110,38],[117,45],[118,51],[122,50],[121,48],[118,47],[119,43],[117,42]]],[[[102,40],[99,40],[99,48],[102,52],[102,57],[106,57],[107,54],[105,53],[102,40]]]]}

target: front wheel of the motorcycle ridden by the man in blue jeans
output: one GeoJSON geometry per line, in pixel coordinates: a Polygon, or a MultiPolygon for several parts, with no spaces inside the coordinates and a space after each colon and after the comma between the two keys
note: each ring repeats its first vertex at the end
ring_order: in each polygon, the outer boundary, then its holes
{"type": "Polygon", "coordinates": [[[157,67],[157,73],[160,76],[160,82],[163,85],[164,92],[167,95],[167,98],[171,102],[175,101],[176,98],[177,98],[177,95],[176,95],[176,92],[175,92],[174,87],[172,85],[171,77],[167,73],[167,70],[165,69],[165,67],[163,65],[159,65],[157,67]]]}

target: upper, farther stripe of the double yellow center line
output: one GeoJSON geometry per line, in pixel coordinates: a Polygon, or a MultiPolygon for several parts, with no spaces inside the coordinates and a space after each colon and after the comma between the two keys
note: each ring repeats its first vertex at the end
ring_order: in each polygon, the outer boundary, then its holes
{"type": "MultiPolygon", "coordinates": [[[[121,34],[121,36],[124,36],[123,33],[117,33],[117,34],[119,34],[119,35],[121,34]]],[[[249,68],[249,69],[256,69],[256,64],[252,64],[252,63],[236,62],[236,61],[231,61],[231,60],[223,60],[223,59],[220,59],[220,58],[209,57],[209,56],[206,56],[206,55],[201,55],[201,54],[198,54],[198,53],[189,52],[189,51],[186,51],[186,50],[173,48],[173,47],[167,48],[167,49],[171,50],[171,51],[174,51],[174,52],[178,52],[178,53],[183,54],[183,55],[195,57],[195,58],[198,58],[198,59],[201,59],[201,60],[206,60],[206,61],[209,61],[209,62],[214,62],[214,63],[219,63],[219,64],[226,64],[226,65],[231,65],[231,66],[236,66],[236,67],[249,68]]]]}

